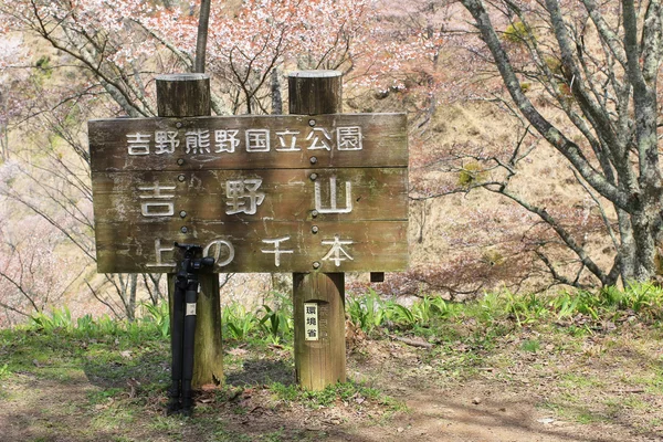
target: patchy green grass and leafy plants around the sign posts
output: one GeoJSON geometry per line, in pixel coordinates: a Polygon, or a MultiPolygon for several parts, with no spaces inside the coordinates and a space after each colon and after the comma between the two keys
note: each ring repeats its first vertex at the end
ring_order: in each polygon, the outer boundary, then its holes
{"type": "MultiPolygon", "coordinates": [[[[639,341],[628,336],[622,338],[621,328],[612,332],[614,327],[624,327],[639,337],[646,330],[648,338],[655,341],[663,338],[662,312],[663,292],[645,284],[597,293],[496,293],[469,303],[427,296],[409,305],[368,292],[350,296],[347,302],[350,320],[369,338],[414,354],[417,362],[403,365],[403,375],[414,373],[431,382],[441,378],[445,385],[480,373],[512,382],[522,379],[513,372],[528,367],[533,372],[546,373],[545,379],[554,379],[557,386],[540,407],[560,419],[582,424],[645,410],[652,403],[650,397],[663,394],[663,360],[650,356],[655,344],[634,345],[639,341]],[[607,329],[607,323],[615,325],[607,329]],[[433,347],[412,349],[397,341],[389,344],[393,336],[423,338],[433,347]],[[577,371],[579,364],[590,359],[600,364],[610,354],[615,355],[613,362],[619,362],[615,366],[621,371],[606,369],[604,376],[577,371]],[[575,365],[564,364],[568,355],[576,358],[575,365]],[[642,369],[633,372],[635,367],[642,369]],[[491,371],[485,371],[486,368],[491,371]],[[607,386],[615,391],[635,388],[643,392],[630,397],[608,394],[600,403],[586,403],[588,397],[607,386]]],[[[123,433],[127,428],[167,434],[169,440],[187,440],[185,427],[219,441],[322,438],[317,432],[295,434],[292,428],[263,429],[245,435],[229,427],[229,420],[250,421],[256,403],[274,414],[293,408],[315,412],[334,407],[359,410],[370,406],[380,409],[379,415],[386,421],[396,412],[407,411],[402,402],[376,388],[381,382],[379,373],[371,377],[367,372],[371,379],[368,383],[349,381],[323,391],[306,391],[290,383],[294,371],[292,305],[288,296],[274,294],[255,309],[238,304],[224,307],[224,347],[230,351],[224,367],[231,379],[229,386],[209,396],[193,418],[165,418],[161,413],[169,385],[167,308],[145,306],[143,315],[133,323],[107,316],[74,320],[63,308],[35,315],[23,327],[0,330],[1,385],[29,385],[31,379],[61,385],[86,382],[76,402],[66,401],[53,412],[85,414],[90,427],[81,432],[104,432],[108,440],[135,440],[123,433]],[[241,351],[231,351],[239,346],[241,351]],[[128,380],[138,387],[129,389],[128,380]],[[253,391],[248,396],[253,398],[249,402],[242,399],[245,391],[253,391]]],[[[370,357],[366,347],[358,349],[361,351],[365,358],[370,357]]],[[[532,372],[528,376],[532,382],[537,381],[532,372]]],[[[0,398],[15,403],[21,394],[14,390],[0,388],[0,398]]],[[[650,421],[648,428],[657,425],[655,420],[650,421]]],[[[44,434],[57,432],[60,424],[55,420],[44,434]]]]}

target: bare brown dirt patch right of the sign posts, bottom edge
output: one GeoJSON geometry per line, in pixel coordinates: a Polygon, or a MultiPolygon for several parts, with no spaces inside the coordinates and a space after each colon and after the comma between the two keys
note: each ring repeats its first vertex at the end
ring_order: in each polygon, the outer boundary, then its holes
{"type": "MultiPolygon", "coordinates": [[[[536,408],[538,398],[524,392],[495,391],[482,382],[454,390],[409,391],[410,412],[397,417],[385,434],[360,431],[362,441],[564,442],[646,441],[630,429],[602,423],[565,422],[536,408]],[[366,433],[366,434],[362,434],[366,433]]],[[[339,439],[343,440],[343,439],[339,439]]]]}

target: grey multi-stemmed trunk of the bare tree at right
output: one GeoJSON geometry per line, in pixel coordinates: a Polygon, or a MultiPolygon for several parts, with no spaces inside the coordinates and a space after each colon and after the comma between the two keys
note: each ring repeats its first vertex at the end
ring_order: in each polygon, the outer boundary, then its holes
{"type": "MultiPolygon", "coordinates": [[[[548,21],[550,36],[555,39],[550,41],[557,43],[555,50],[561,61],[560,75],[552,76],[550,70],[546,71],[544,66],[540,77],[547,78],[543,82],[547,82],[551,91],[558,90],[559,82],[568,86],[573,105],[565,106],[560,102],[560,107],[589,141],[594,156],[591,158],[587,156],[589,150],[573,141],[572,133],[562,134],[522,91],[518,75],[526,74],[514,69],[484,2],[462,0],[462,3],[474,18],[503,83],[522,115],[566,158],[577,177],[581,177],[593,191],[613,204],[620,234],[619,240],[615,240],[619,245],[614,262],[620,267],[622,283],[652,278],[656,273],[656,239],[663,223],[663,177],[659,164],[656,126],[656,81],[663,57],[661,4],[650,3],[641,19],[638,13],[643,11],[636,12],[633,0],[624,0],[622,33],[617,34],[606,24],[592,1],[582,2],[596,25],[597,36],[611,53],[609,60],[597,67],[611,78],[610,87],[613,87],[614,103],[606,104],[597,99],[596,91],[601,90],[601,94],[607,95],[609,93],[602,88],[604,84],[597,84],[597,78],[587,73],[587,54],[582,49],[585,42],[578,41],[573,34],[573,28],[568,23],[572,18],[566,15],[568,10],[555,0],[540,3],[543,10],[536,15],[536,20],[545,18],[548,21]],[[642,29],[639,29],[639,23],[642,29]],[[619,63],[614,63],[615,60],[619,63]],[[623,71],[621,67],[615,69],[615,64],[623,67],[623,71]]],[[[509,2],[506,2],[505,8],[524,20],[523,10],[509,2]]],[[[524,44],[533,55],[532,65],[540,64],[536,62],[536,56],[541,57],[536,35],[524,44]]],[[[518,202],[527,209],[526,204],[518,202]]],[[[545,221],[555,228],[551,220],[545,221]]],[[[556,231],[564,239],[564,229],[556,231]]],[[[565,243],[573,249],[569,241],[565,240],[565,243]]],[[[587,254],[582,246],[575,252],[578,256],[587,254]]],[[[587,266],[591,261],[588,259],[582,262],[587,266]]],[[[612,284],[612,275],[618,272],[611,271],[610,277],[601,277],[608,274],[597,266],[597,271],[592,273],[599,276],[602,284],[612,284]]]]}

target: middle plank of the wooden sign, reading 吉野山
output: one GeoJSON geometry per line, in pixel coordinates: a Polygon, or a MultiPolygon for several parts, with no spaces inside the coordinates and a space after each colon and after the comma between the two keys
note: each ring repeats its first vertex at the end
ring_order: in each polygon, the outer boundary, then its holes
{"type": "Polygon", "coordinates": [[[406,168],[93,175],[97,223],[407,220],[407,186],[406,168]]]}

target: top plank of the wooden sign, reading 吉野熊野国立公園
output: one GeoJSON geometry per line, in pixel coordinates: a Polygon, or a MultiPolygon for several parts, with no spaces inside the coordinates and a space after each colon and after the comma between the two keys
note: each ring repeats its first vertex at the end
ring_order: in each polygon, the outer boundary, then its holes
{"type": "Polygon", "coordinates": [[[93,171],[406,167],[407,133],[404,114],[88,122],[93,171]]]}

